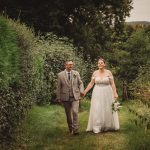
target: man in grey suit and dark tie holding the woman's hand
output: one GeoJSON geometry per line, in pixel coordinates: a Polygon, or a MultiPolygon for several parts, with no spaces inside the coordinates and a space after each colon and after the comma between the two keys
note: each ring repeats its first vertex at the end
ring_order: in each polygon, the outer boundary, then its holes
{"type": "Polygon", "coordinates": [[[78,111],[84,86],[77,71],[72,70],[73,61],[65,62],[65,70],[58,74],[57,99],[65,108],[70,134],[78,134],[78,111]]]}

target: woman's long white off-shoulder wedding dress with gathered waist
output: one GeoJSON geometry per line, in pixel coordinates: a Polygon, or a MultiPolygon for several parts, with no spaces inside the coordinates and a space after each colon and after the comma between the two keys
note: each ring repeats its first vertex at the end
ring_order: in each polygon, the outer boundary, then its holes
{"type": "Polygon", "coordinates": [[[118,130],[118,113],[112,111],[112,103],[115,101],[109,76],[93,77],[95,86],[92,92],[89,121],[86,131],[99,133],[101,131],[118,130]]]}

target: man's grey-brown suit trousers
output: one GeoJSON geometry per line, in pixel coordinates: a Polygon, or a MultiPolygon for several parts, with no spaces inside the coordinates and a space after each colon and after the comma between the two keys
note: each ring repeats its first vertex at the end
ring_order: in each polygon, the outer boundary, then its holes
{"type": "Polygon", "coordinates": [[[67,124],[70,132],[78,131],[78,112],[79,112],[79,100],[64,101],[63,102],[67,124]]]}

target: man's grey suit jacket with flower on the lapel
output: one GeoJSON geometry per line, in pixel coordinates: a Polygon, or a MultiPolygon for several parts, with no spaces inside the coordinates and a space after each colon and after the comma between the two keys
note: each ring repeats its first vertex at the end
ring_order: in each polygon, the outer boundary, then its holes
{"type": "MultiPolygon", "coordinates": [[[[72,91],[75,100],[80,99],[80,93],[83,93],[84,86],[81,81],[80,75],[77,71],[71,71],[71,79],[72,79],[72,91]]],[[[62,71],[58,74],[58,82],[57,82],[57,90],[56,90],[57,99],[61,101],[69,100],[69,83],[67,80],[66,71],[62,71]]]]}

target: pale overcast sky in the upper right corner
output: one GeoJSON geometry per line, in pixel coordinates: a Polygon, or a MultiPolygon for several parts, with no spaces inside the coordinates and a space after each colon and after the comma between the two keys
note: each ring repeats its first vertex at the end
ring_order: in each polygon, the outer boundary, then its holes
{"type": "Polygon", "coordinates": [[[132,6],[126,21],[150,21],[150,0],[133,0],[132,6]]]}

